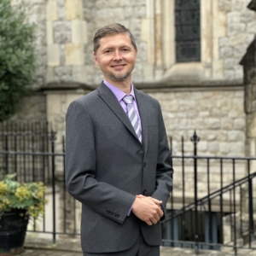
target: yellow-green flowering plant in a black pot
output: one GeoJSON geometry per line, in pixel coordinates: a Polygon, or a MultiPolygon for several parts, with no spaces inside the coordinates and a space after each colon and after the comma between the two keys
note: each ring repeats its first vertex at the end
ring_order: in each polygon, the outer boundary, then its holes
{"type": "Polygon", "coordinates": [[[0,256],[21,253],[29,218],[44,215],[44,183],[19,183],[15,176],[0,181],[0,256]]]}

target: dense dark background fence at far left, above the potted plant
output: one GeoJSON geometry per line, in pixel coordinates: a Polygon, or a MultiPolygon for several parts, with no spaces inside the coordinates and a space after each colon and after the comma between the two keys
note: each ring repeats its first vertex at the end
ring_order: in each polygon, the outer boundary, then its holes
{"type": "Polygon", "coordinates": [[[19,181],[49,182],[48,123],[0,123],[0,148],[9,154],[0,155],[0,178],[4,173],[16,172],[19,181]]]}

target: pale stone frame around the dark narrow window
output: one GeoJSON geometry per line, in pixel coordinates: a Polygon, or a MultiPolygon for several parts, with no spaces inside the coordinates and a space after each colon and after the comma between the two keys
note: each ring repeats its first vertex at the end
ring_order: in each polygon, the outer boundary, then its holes
{"type": "Polygon", "coordinates": [[[225,16],[218,11],[218,0],[201,0],[201,61],[178,63],[175,49],[175,0],[147,2],[151,14],[154,9],[154,79],[222,79],[223,74],[219,70],[223,63],[219,60],[218,38],[225,33],[224,26],[220,26],[225,23],[225,16]],[[160,21],[157,18],[159,15],[160,21]],[[188,72],[183,73],[184,70],[188,72]]]}

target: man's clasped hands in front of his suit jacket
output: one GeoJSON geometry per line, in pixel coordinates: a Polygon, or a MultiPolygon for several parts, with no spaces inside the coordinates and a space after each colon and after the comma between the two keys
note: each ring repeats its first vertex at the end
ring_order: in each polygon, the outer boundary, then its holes
{"type": "Polygon", "coordinates": [[[136,195],[136,199],[131,207],[131,212],[133,212],[137,218],[140,218],[151,226],[152,224],[157,224],[164,215],[161,204],[162,201],[154,199],[151,196],[136,195]]]}

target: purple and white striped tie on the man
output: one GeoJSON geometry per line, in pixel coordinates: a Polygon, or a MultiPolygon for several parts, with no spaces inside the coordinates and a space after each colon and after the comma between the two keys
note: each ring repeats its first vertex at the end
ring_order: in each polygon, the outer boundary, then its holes
{"type": "Polygon", "coordinates": [[[131,96],[131,95],[124,96],[123,101],[127,105],[127,112],[128,112],[128,117],[131,121],[131,125],[133,126],[133,129],[136,132],[139,141],[142,143],[142,141],[143,141],[142,131],[140,129],[139,120],[137,118],[137,113],[135,112],[133,105],[132,105],[133,96],[131,96]]]}

